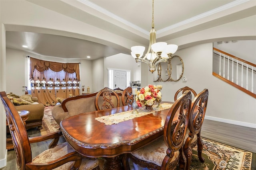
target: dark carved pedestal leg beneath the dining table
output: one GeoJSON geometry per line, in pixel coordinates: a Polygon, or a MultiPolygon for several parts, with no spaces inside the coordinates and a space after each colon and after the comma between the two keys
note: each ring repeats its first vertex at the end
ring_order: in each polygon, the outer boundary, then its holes
{"type": "Polygon", "coordinates": [[[122,170],[122,164],[120,157],[116,156],[113,158],[104,158],[103,170],[122,170]]]}

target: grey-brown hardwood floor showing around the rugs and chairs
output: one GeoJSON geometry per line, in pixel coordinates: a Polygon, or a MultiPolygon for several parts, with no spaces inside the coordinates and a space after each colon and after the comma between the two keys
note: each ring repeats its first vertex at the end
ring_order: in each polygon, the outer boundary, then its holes
{"type": "MultiPolygon", "coordinates": [[[[28,130],[28,135],[30,137],[39,136],[40,131],[37,131],[36,128],[30,129],[28,130]]],[[[254,128],[231,125],[228,123],[221,123],[205,119],[202,126],[201,135],[202,137],[211,139],[213,141],[256,153],[256,129],[254,128]]],[[[59,142],[62,143],[64,141],[65,139],[61,137],[59,142]]],[[[42,151],[48,149],[49,144],[50,141],[32,143],[32,158],[40,154],[42,151]]],[[[253,161],[255,160],[256,158],[253,158],[253,161]]],[[[100,167],[102,167],[102,160],[100,162],[100,167]]],[[[16,154],[14,150],[8,150],[7,165],[4,168],[0,168],[0,170],[17,170],[16,154]]]]}

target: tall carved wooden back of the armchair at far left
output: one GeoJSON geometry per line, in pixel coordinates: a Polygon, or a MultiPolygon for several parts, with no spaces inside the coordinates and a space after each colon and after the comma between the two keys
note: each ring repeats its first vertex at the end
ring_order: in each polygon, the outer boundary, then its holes
{"type": "Polygon", "coordinates": [[[12,136],[12,143],[16,152],[17,167],[19,170],[23,170],[25,169],[26,163],[32,162],[28,134],[18,111],[15,109],[6,93],[0,92],[0,96],[6,112],[6,118],[12,136]]]}

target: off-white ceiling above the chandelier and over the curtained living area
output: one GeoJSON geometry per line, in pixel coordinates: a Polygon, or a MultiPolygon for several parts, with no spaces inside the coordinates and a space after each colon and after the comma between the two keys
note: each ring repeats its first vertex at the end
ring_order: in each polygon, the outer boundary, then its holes
{"type": "MultiPolygon", "coordinates": [[[[28,0],[28,2],[132,39],[138,44],[147,46],[149,43],[149,30],[152,22],[151,0],[28,0]]],[[[246,0],[244,2],[235,0],[154,0],[154,27],[157,30],[157,41],[167,41],[214,27],[220,23],[230,22],[232,15],[235,15],[235,12],[240,12],[236,10],[236,7],[239,8],[246,2],[246,0]],[[229,9],[233,12],[229,12],[229,9]],[[223,11],[225,11],[225,15],[223,11]]],[[[255,13],[253,12],[253,14],[255,13]]],[[[249,15],[252,15],[252,12],[239,13],[240,18],[249,15]]],[[[92,39],[82,36],[79,38],[35,32],[6,31],[6,47],[38,55],[64,59],[88,59],[86,57],[90,56],[90,60],[94,60],[118,53],[130,54],[130,49],[98,42],[93,42],[92,39]],[[27,45],[28,48],[23,48],[22,45],[27,45]]]]}

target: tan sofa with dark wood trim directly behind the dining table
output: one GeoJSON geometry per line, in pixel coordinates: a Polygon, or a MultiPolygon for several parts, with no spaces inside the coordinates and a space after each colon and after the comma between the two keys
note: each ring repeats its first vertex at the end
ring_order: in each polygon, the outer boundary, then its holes
{"type": "MultiPolygon", "coordinates": [[[[98,92],[80,95],[76,97],[71,97],[63,100],[61,104],[56,105],[52,108],[52,117],[60,125],[63,119],[66,119],[73,115],[78,115],[80,113],[86,113],[90,111],[96,111],[95,99],[98,92]]],[[[117,93],[120,99],[120,106],[122,106],[122,93],[117,93]]],[[[112,98],[114,99],[114,97],[112,98]]],[[[59,101],[60,102],[60,101],[59,101]]],[[[112,101],[115,104],[115,100],[112,101]]],[[[103,101],[99,102],[101,105],[103,101]]]]}

